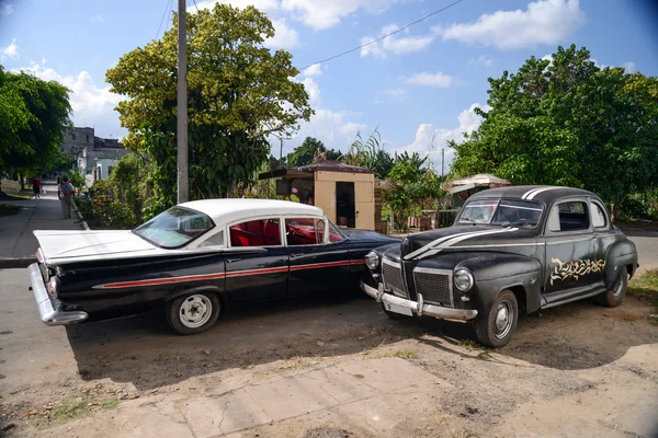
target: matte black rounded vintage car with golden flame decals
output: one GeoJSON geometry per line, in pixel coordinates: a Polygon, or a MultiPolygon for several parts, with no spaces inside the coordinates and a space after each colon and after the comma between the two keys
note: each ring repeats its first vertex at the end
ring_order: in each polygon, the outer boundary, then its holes
{"type": "Polygon", "coordinates": [[[588,297],[621,304],[638,266],[597,195],[553,186],[479,192],[453,227],[375,249],[366,263],[361,287],[389,316],[474,320],[491,347],[510,342],[519,309],[588,297]]]}

